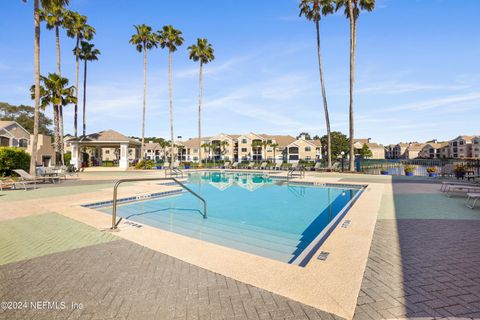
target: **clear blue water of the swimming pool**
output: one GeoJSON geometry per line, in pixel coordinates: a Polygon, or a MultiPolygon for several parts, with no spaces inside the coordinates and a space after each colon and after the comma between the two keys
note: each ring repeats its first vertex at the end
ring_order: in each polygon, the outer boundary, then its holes
{"type": "MultiPolygon", "coordinates": [[[[201,214],[203,204],[187,192],[124,204],[117,208],[117,215],[301,264],[298,260],[304,259],[305,249],[322,231],[330,231],[325,228],[359,192],[358,188],[288,184],[250,173],[192,173],[186,185],[205,198],[207,219],[201,214]]],[[[111,207],[99,210],[111,213],[111,207]]]]}

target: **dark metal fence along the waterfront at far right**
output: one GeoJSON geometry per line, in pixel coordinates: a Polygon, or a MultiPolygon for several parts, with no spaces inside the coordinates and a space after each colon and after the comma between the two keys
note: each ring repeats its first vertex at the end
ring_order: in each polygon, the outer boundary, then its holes
{"type": "Polygon", "coordinates": [[[357,171],[368,174],[405,175],[405,166],[414,168],[414,175],[428,176],[427,168],[434,167],[438,175],[452,175],[453,168],[464,166],[474,175],[480,175],[480,159],[359,159],[357,171]]]}

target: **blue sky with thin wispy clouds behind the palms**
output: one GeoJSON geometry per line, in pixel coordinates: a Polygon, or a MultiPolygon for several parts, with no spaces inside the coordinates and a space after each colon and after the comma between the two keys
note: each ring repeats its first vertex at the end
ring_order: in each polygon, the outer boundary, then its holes
{"type": "MultiPolygon", "coordinates": [[[[323,135],[315,29],[296,0],[71,0],[89,17],[102,51],[89,65],[87,131],[140,135],[142,56],[134,24],[172,24],[186,43],[173,57],[175,135],[196,135],[198,64],[187,47],[206,37],[216,60],[204,77],[203,128],[219,132],[323,135]]],[[[1,1],[0,101],[32,104],[33,1],[1,1]]],[[[479,134],[480,21],[477,0],[377,0],[358,22],[356,136],[380,143],[479,134]]],[[[348,132],[349,26],[321,21],[332,130],[348,132]]],[[[41,72],[55,72],[54,32],[42,26],[41,72]]],[[[62,76],[74,83],[74,41],[62,32],[62,76]]],[[[167,52],[148,52],[147,136],[169,134],[167,52]]],[[[73,107],[65,110],[72,132],[73,107]]],[[[51,110],[47,110],[51,114],[51,110]]]]}

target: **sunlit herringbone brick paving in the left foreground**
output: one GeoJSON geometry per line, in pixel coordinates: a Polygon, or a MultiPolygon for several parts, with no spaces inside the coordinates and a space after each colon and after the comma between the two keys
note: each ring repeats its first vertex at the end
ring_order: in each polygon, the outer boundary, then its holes
{"type": "Polygon", "coordinates": [[[66,304],[0,311],[0,319],[336,318],[126,240],[0,266],[0,294],[66,304]],[[83,309],[72,310],[72,302],[83,309]]]}

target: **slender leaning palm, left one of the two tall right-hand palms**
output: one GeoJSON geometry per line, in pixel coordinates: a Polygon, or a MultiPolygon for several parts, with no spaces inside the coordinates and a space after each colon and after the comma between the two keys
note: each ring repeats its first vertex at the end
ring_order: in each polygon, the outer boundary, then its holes
{"type": "Polygon", "coordinates": [[[331,155],[331,136],[330,136],[330,116],[328,114],[327,94],[325,92],[325,80],[323,78],[323,67],[320,50],[320,18],[323,15],[327,15],[333,12],[333,4],[331,0],[301,0],[300,16],[305,16],[307,20],[315,22],[315,30],[317,33],[317,57],[318,57],[318,70],[320,73],[320,84],[322,87],[323,109],[325,112],[325,123],[327,127],[327,166],[332,166],[331,155]]]}

